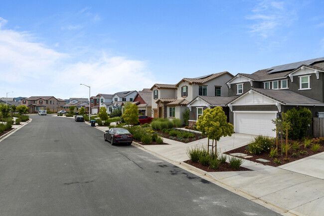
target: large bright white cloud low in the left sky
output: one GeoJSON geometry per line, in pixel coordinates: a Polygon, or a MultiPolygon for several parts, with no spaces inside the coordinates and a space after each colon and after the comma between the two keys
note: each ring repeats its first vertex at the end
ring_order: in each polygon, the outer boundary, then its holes
{"type": "Polygon", "coordinates": [[[145,61],[123,56],[106,56],[104,51],[86,61],[74,59],[32,41],[27,32],[0,28],[0,95],[13,91],[13,97],[53,95],[59,98],[113,94],[142,90],[155,83],[145,61]]]}

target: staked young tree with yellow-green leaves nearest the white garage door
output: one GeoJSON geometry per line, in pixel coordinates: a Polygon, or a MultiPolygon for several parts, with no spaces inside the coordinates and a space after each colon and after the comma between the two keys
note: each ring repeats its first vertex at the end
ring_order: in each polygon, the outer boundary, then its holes
{"type": "Polygon", "coordinates": [[[234,133],[233,125],[227,122],[227,116],[221,107],[204,110],[196,125],[197,129],[207,135],[208,139],[215,140],[215,156],[217,155],[217,141],[223,136],[232,136],[234,133]]]}

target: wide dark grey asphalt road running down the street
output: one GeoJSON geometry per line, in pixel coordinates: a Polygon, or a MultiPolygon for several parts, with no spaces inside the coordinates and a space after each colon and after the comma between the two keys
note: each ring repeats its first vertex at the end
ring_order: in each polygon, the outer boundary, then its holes
{"type": "Polygon", "coordinates": [[[278,215],[85,123],[30,117],[0,142],[0,216],[278,215]]]}

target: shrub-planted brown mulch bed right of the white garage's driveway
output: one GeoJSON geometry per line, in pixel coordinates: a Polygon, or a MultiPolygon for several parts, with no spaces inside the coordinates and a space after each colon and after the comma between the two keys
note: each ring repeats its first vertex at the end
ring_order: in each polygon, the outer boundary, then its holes
{"type": "MultiPolygon", "coordinates": [[[[237,149],[233,149],[233,150],[228,151],[228,152],[225,152],[224,154],[229,155],[229,154],[232,154],[232,153],[243,153],[243,154],[246,154],[248,156],[253,156],[252,158],[244,158],[245,160],[254,161],[256,163],[261,163],[261,164],[268,165],[268,166],[278,167],[278,166],[288,164],[288,163],[293,162],[293,161],[297,161],[297,160],[300,160],[300,159],[303,159],[303,158],[306,158],[306,157],[309,157],[309,156],[324,152],[324,146],[323,145],[321,145],[318,152],[313,152],[311,147],[308,147],[308,148],[305,149],[304,146],[301,146],[298,150],[290,149],[288,151],[288,159],[289,160],[285,160],[286,159],[286,153],[283,152],[283,155],[281,155],[281,149],[280,149],[280,147],[278,147],[278,148],[279,148],[278,149],[278,155],[275,156],[274,158],[269,156],[269,152],[262,152],[259,155],[252,155],[250,152],[247,151],[247,145],[243,146],[243,147],[240,147],[240,148],[237,148],[237,149]],[[300,151],[305,151],[305,152],[303,152],[303,155],[299,154],[297,157],[292,157],[293,153],[298,154],[300,151]],[[281,163],[274,162],[275,158],[277,160],[280,160],[281,163]],[[256,159],[265,159],[265,160],[268,160],[270,162],[261,162],[261,161],[257,161],[256,159]]],[[[235,157],[237,157],[237,156],[235,156],[235,157]]],[[[241,157],[241,158],[243,158],[243,157],[241,157]]]]}

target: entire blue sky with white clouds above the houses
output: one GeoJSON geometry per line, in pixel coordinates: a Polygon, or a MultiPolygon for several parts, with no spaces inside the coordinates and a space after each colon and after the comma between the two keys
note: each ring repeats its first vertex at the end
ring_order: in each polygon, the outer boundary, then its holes
{"type": "Polygon", "coordinates": [[[318,0],[15,1],[0,5],[0,97],[67,99],[324,57],[318,0]]]}

